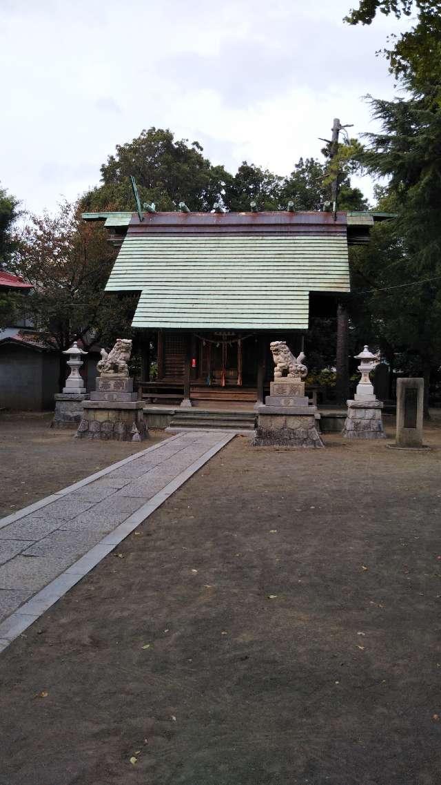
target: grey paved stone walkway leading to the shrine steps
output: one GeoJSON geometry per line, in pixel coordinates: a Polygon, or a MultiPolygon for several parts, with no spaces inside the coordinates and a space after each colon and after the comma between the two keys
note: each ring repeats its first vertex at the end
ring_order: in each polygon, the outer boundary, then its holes
{"type": "Polygon", "coordinates": [[[0,520],[0,651],[222,449],[186,431],[0,520]]]}

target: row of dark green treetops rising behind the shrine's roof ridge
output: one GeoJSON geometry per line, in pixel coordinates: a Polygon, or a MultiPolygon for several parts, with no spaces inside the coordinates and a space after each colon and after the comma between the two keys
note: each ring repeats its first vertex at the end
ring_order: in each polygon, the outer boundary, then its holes
{"type": "Polygon", "coordinates": [[[207,211],[220,202],[236,212],[250,210],[251,201],[258,210],[286,210],[290,200],[295,210],[317,210],[331,198],[331,177],[337,173],[338,208],[366,210],[367,200],[350,184],[354,145],[339,145],[332,170],[326,160],[300,159],[289,176],[280,177],[244,161],[232,175],[223,166],[212,166],[198,142],[175,141],[171,131],[150,128],[117,145],[115,155],[101,167],[103,184],[83,196],[81,209],[133,210],[133,174],[141,203],[154,202],[157,210],[177,210],[179,202],[185,202],[190,210],[207,211]]]}

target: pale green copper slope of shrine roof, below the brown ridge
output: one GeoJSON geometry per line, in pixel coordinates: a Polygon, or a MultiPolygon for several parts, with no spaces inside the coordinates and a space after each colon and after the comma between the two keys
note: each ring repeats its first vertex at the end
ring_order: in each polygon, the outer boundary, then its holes
{"type": "Polygon", "coordinates": [[[140,290],[133,327],[308,328],[309,292],[348,292],[345,233],[126,236],[107,291],[140,290]]]}

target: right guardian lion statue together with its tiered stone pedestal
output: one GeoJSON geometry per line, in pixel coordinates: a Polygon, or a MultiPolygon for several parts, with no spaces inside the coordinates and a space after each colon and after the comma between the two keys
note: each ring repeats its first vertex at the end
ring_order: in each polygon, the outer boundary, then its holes
{"type": "Polygon", "coordinates": [[[303,364],[305,355],[295,357],[286,341],[273,341],[269,348],[273,353],[274,381],[265,403],[258,404],[256,411],[257,431],[252,441],[254,447],[324,447],[317,430],[316,406],[305,396],[308,374],[303,364]]]}

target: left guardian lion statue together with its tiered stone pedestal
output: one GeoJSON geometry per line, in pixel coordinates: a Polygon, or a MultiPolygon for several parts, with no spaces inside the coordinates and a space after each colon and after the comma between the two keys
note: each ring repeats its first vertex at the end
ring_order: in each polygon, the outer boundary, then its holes
{"type": "Polygon", "coordinates": [[[101,349],[97,365],[96,392],[83,402],[78,439],[142,441],[147,438],[143,402],[136,400],[133,379],[128,376],[132,341],[118,338],[107,353],[101,349]]]}

